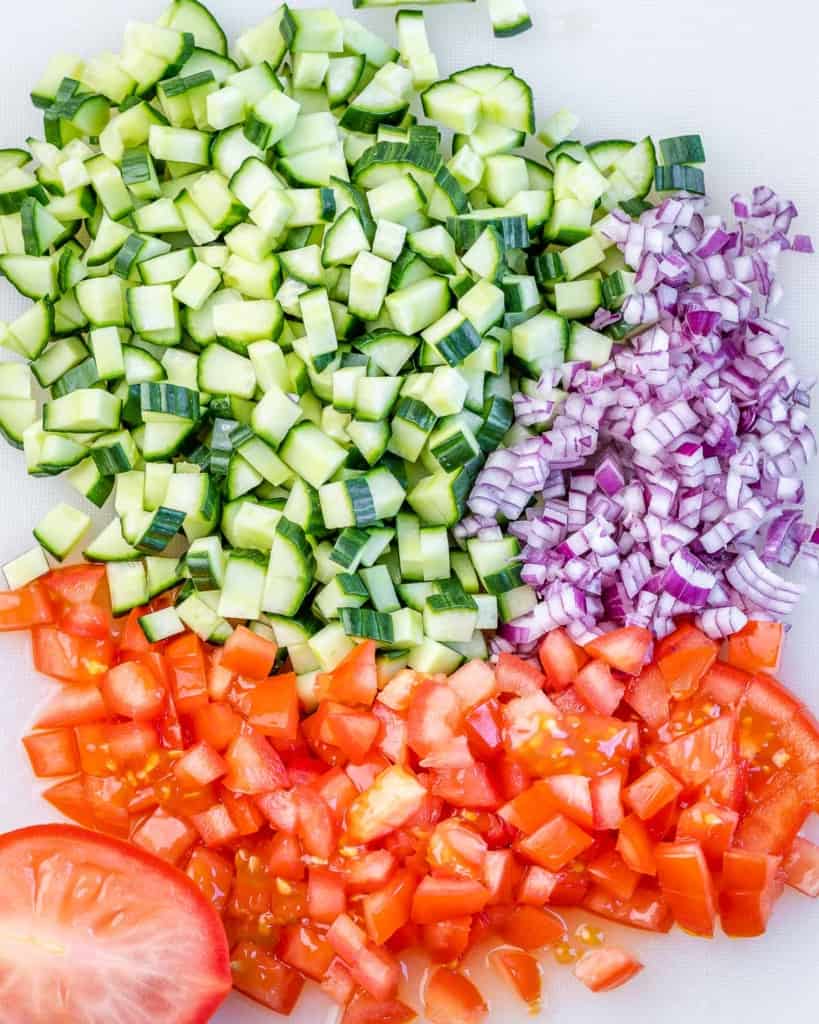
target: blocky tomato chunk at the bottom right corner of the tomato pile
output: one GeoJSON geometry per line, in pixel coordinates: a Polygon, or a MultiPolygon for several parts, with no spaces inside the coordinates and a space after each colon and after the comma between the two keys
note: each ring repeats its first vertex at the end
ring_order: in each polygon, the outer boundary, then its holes
{"type": "Polygon", "coordinates": [[[769,854],[726,852],[720,888],[720,919],[726,935],[753,938],[764,934],[781,891],[780,863],[780,857],[769,854]]]}

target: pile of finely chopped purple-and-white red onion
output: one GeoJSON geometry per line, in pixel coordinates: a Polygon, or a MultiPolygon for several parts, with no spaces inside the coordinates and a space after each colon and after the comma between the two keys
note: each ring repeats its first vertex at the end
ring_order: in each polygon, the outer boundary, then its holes
{"type": "Polygon", "coordinates": [[[491,455],[476,481],[458,535],[497,536],[507,520],[538,596],[495,651],[560,626],[579,643],[623,625],[662,637],[692,614],[721,638],[796,604],[803,587],[774,566],[817,560],[803,519],[814,381],[772,310],[780,253],[813,247],[788,239],[795,207],[769,188],[734,197],[733,212],[730,227],[683,195],[598,225],[636,279],[620,312],[592,326],[643,330],[598,369],[546,373],[542,402],[516,396],[527,425],[551,412],[554,387],[568,392],[551,429],[491,455]]]}

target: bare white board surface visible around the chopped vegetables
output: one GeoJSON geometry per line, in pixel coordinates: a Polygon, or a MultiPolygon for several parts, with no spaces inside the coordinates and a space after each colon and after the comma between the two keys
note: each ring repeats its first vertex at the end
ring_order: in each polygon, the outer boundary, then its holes
{"type": "MultiPolygon", "coordinates": [[[[328,0],[326,0],[326,3],[328,0]]],[[[331,6],[349,13],[350,0],[331,6]]],[[[408,5],[408,4],[407,4],[408,5]]],[[[55,51],[90,54],[118,49],[127,18],[150,19],[159,0],[4,0],[0,34],[0,144],[19,144],[41,133],[28,100],[45,59],[55,51]]],[[[231,35],[270,10],[269,0],[211,0],[231,35]]],[[[537,96],[547,116],[560,106],[580,115],[580,137],[655,137],[702,132],[706,181],[724,209],[734,191],[769,183],[800,207],[800,229],[819,234],[819,165],[816,98],[819,95],[816,36],[819,16],[806,0],[529,0],[536,27],[517,40],[494,40],[485,0],[472,6],[433,7],[427,12],[441,71],[489,60],[511,63],[537,96]]],[[[384,34],[393,11],[360,16],[384,34]]],[[[794,327],[793,353],[801,369],[819,370],[817,259],[788,256],[787,295],[780,312],[794,327]]],[[[0,316],[24,308],[3,283],[0,316]]],[[[814,470],[814,477],[816,476],[814,470]]],[[[27,478],[19,453],[0,447],[0,562],[31,544],[32,525],[68,487],[27,478]]],[[[783,677],[819,707],[816,657],[819,643],[812,610],[814,589],[794,624],[783,677]]],[[[18,746],[19,735],[45,683],[31,667],[28,638],[0,640],[0,830],[46,820],[18,746]]],[[[53,817],[53,816],[52,816],[53,817]]],[[[577,919],[579,920],[579,919],[577,919]]],[[[542,1020],[572,1024],[622,1024],[636,1018],[664,1024],[709,1024],[721,1018],[744,1024],[815,1020],[816,933],[819,907],[792,893],[777,907],[762,940],[712,943],[643,936],[618,938],[644,959],[647,970],[627,988],[591,995],[570,972],[546,961],[546,1009],[542,1020]]],[[[615,929],[606,929],[613,935],[615,929]]],[[[416,999],[412,999],[417,1004],[416,999]]],[[[492,1021],[530,1021],[512,1001],[495,1004],[492,1021]]],[[[0,1011],[0,1018],[2,1011],[0,1011]]],[[[328,1017],[320,995],[304,999],[296,1024],[328,1017]]],[[[253,1024],[273,1018],[233,997],[217,1015],[219,1024],[253,1024]]],[[[332,1011],[330,1018],[333,1019],[332,1011]]],[[[103,1022],[100,1022],[103,1024],[103,1022]]]]}

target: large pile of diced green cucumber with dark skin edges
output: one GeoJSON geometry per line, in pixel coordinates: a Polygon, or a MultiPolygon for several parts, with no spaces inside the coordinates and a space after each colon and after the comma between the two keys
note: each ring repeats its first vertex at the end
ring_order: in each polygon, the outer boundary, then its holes
{"type": "MultiPolygon", "coordinates": [[[[521,156],[529,87],[438,81],[423,14],[396,20],[400,52],[283,4],[228,54],[175,0],[119,54],[52,60],[45,140],[0,153],[0,270],[33,300],[0,330],[28,360],[0,366],[0,428],[30,473],[113,493],[83,554],[118,613],[180,586],[152,639],[248,622],[305,687],[360,637],[385,668],[451,671],[534,603],[513,538],[450,528],[527,433],[513,394],[621,336],[588,325],[633,281],[596,226],[654,182],[650,139],[584,146],[566,114],[521,156]]],[[[53,510],[9,584],[88,526],[53,510]]]]}

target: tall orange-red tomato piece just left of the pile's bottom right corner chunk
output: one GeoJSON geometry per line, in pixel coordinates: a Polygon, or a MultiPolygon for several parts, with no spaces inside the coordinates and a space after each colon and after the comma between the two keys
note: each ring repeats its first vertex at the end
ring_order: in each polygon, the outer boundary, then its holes
{"type": "Polygon", "coordinates": [[[654,850],[662,895],[677,924],[710,938],[717,919],[714,880],[698,843],[659,843],[654,850]]]}

